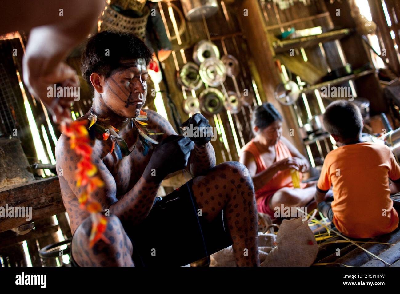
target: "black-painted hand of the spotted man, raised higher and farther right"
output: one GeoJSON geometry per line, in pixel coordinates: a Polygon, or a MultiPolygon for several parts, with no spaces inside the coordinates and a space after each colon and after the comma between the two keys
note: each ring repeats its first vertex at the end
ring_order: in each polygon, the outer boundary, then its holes
{"type": "Polygon", "coordinates": [[[210,142],[213,134],[212,127],[202,114],[196,113],[182,124],[183,134],[196,145],[205,145],[210,142]]]}

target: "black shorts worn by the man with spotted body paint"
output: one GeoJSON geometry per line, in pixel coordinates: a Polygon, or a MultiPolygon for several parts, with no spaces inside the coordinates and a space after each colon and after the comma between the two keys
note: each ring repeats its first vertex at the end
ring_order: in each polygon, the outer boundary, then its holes
{"type": "Polygon", "coordinates": [[[193,199],[192,182],[157,197],[140,225],[125,228],[135,266],[184,266],[232,245],[224,210],[208,222],[193,199]]]}

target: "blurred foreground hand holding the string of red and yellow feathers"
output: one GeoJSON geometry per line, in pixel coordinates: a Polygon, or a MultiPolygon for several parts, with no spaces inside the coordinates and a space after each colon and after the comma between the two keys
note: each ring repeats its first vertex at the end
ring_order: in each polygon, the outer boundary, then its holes
{"type": "Polygon", "coordinates": [[[60,62],[50,73],[43,73],[42,61],[35,58],[24,57],[23,74],[24,82],[29,89],[29,92],[36,98],[42,100],[44,106],[50,112],[55,123],[60,123],[63,119],[71,119],[70,107],[74,100],[79,100],[80,86],[78,75],[67,64],[60,62]],[[57,91],[54,93],[54,85],[56,88],[61,86],[63,94],[57,97],[57,91]],[[51,87],[51,90],[50,88],[51,87]],[[68,87],[68,88],[64,88],[68,87]],[[69,88],[76,87],[76,88],[69,88]],[[64,91],[66,89],[66,91],[64,91]],[[72,91],[70,91],[72,89],[72,91]],[[64,93],[68,93],[64,96],[64,93]],[[76,93],[76,97],[74,97],[76,93]],[[70,96],[70,97],[68,97],[70,96]]]}

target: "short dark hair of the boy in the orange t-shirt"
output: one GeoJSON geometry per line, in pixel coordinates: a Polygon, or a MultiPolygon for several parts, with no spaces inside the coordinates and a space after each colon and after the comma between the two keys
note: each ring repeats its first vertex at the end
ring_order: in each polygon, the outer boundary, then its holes
{"type": "Polygon", "coordinates": [[[363,126],[360,108],[347,100],[334,101],[325,110],[324,126],[345,140],[357,139],[363,126]]]}

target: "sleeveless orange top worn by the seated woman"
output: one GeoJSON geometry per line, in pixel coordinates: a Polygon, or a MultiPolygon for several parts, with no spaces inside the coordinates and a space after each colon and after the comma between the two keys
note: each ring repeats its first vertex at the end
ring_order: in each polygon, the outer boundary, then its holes
{"type": "MultiPolygon", "coordinates": [[[[268,168],[265,165],[265,162],[262,159],[262,156],[260,155],[260,152],[257,149],[256,144],[254,144],[254,139],[252,139],[250,142],[248,142],[246,145],[243,146],[242,152],[244,151],[250,152],[253,155],[254,159],[256,160],[256,165],[257,165],[256,174],[268,168]]],[[[292,157],[289,148],[281,140],[279,140],[278,143],[275,144],[275,153],[276,153],[276,159],[274,162],[278,162],[282,159],[292,157]]],[[[305,186],[307,186],[307,184],[302,183],[301,180],[302,180],[302,173],[300,172],[300,187],[304,188],[305,186]]],[[[271,180],[269,180],[262,188],[256,191],[256,198],[266,197],[271,194],[274,194],[276,191],[278,191],[280,188],[283,187],[293,188],[292,175],[290,173],[290,169],[280,170],[279,172],[277,172],[271,180]]]]}

